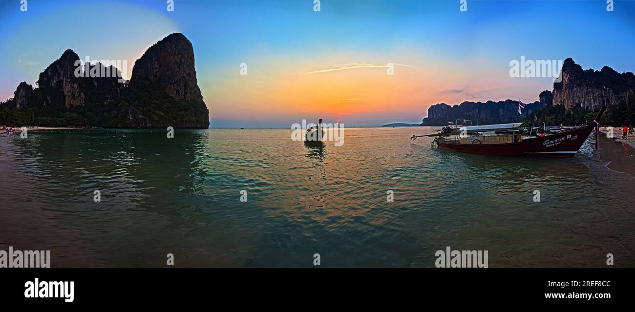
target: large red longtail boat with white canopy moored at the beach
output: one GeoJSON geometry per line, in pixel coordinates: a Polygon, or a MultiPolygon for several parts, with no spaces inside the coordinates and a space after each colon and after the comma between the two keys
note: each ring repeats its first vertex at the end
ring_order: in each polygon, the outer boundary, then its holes
{"type": "MultiPolygon", "coordinates": [[[[446,126],[434,136],[432,145],[457,152],[486,155],[532,155],[532,156],[573,156],[587,140],[592,131],[598,135],[598,120],[606,110],[603,106],[593,122],[580,127],[570,127],[558,133],[540,136],[538,127],[528,127],[524,123],[496,124],[488,126],[446,126]]],[[[411,136],[411,140],[421,136],[411,136]]],[[[596,140],[596,148],[598,148],[596,140]]]]}

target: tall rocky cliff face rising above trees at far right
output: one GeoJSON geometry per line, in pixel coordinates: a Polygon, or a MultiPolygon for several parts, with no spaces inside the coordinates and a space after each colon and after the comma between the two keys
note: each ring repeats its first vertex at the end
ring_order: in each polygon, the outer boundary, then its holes
{"type": "Polygon", "coordinates": [[[599,71],[582,70],[572,58],[567,58],[561,74],[562,81],[554,83],[553,103],[565,105],[566,109],[578,104],[588,111],[599,110],[602,105],[610,109],[635,92],[632,72],[620,74],[608,66],[599,71]]]}

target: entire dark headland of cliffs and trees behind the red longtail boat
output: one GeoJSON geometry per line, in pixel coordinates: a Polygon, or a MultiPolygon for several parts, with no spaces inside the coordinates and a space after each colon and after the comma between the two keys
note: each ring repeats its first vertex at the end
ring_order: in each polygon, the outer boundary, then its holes
{"type": "Polygon", "coordinates": [[[600,120],[606,126],[635,124],[635,75],[620,74],[605,66],[601,70],[583,70],[567,58],[561,69],[562,81],[554,82],[553,91],[542,91],[538,101],[525,103],[523,115],[518,114],[518,101],[465,101],[459,105],[438,103],[428,108],[419,126],[445,126],[457,119],[474,124],[525,122],[576,126],[592,120],[602,105],[608,110],[600,120]]]}

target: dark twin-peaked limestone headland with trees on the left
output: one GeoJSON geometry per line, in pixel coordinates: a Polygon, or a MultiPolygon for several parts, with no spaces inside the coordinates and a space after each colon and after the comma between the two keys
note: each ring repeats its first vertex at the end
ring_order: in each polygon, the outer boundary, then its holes
{"type": "MultiPolygon", "coordinates": [[[[0,102],[0,124],[16,126],[180,127],[210,126],[194,69],[194,48],[180,33],[145,51],[130,81],[112,77],[77,77],[79,56],[68,49],[33,88],[20,82],[14,97],[0,102]]],[[[101,63],[83,72],[119,72],[101,63]]]]}

